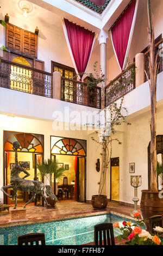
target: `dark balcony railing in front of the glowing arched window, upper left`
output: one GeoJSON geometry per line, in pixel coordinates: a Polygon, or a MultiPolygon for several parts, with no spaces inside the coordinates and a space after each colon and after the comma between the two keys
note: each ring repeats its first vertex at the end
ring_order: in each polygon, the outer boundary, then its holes
{"type": "Polygon", "coordinates": [[[0,87],[52,97],[52,74],[8,60],[1,60],[0,87]]]}

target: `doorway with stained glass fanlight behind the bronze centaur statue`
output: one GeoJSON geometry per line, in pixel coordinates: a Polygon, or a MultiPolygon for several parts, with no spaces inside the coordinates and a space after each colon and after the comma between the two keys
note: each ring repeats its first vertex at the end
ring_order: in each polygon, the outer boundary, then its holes
{"type": "MultiPolygon", "coordinates": [[[[29,162],[29,169],[27,171],[29,172],[30,176],[27,179],[42,181],[41,177],[37,175],[36,160],[39,158],[43,159],[44,136],[36,135],[34,133],[4,131],[4,186],[10,184],[10,172],[12,164],[15,163],[15,151],[13,148],[14,141],[18,141],[20,143],[20,148],[17,150],[18,161],[29,162]]],[[[24,176],[24,174],[20,174],[21,178],[23,177],[22,175],[24,176]]],[[[11,194],[12,190],[8,190],[8,193],[11,194]]],[[[28,201],[31,194],[28,192],[18,191],[18,196],[18,203],[23,203],[24,201],[28,201]]],[[[12,204],[14,203],[14,201],[12,201],[13,200],[10,198],[4,197],[4,203],[12,204]]]]}

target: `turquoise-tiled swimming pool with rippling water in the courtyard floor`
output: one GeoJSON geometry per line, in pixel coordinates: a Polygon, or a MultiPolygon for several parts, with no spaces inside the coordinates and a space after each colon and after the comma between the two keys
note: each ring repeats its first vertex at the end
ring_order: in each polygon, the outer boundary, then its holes
{"type": "MultiPolygon", "coordinates": [[[[94,225],[125,220],[129,221],[114,214],[105,214],[0,228],[0,245],[17,245],[17,236],[28,233],[45,233],[46,245],[82,245],[93,242],[94,225]]],[[[114,229],[114,236],[118,235],[120,231],[114,229]]]]}

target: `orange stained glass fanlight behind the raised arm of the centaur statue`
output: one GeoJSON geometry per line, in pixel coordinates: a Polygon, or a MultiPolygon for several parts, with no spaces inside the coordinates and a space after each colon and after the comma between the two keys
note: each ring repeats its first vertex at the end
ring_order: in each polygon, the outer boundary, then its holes
{"type": "MultiPolygon", "coordinates": [[[[10,132],[7,132],[10,133],[10,132]]],[[[41,136],[41,135],[40,135],[41,136]]],[[[5,132],[4,132],[5,137],[5,132]]],[[[20,148],[17,151],[30,153],[43,153],[43,147],[40,139],[32,133],[13,133],[6,140],[4,139],[4,150],[14,151],[13,142],[20,142],[20,148]]]]}

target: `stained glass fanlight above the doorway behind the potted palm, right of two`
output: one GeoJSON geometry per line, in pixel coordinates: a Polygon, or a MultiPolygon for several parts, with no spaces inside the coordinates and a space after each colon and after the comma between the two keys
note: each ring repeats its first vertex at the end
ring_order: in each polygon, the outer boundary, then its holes
{"type": "Polygon", "coordinates": [[[51,153],[59,155],[86,156],[86,141],[82,139],[52,136],[51,153]]]}

